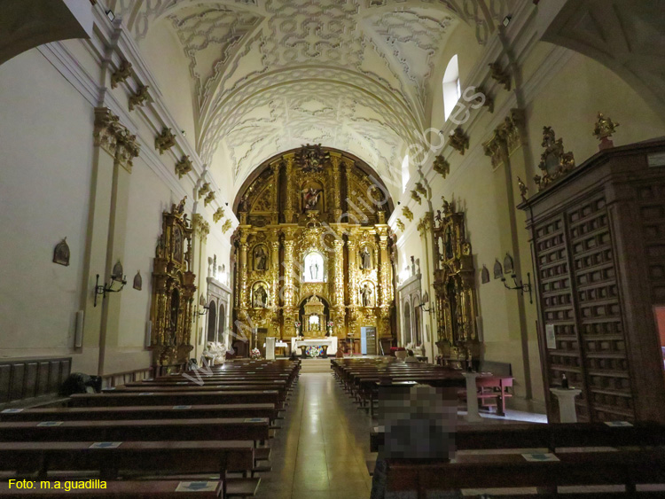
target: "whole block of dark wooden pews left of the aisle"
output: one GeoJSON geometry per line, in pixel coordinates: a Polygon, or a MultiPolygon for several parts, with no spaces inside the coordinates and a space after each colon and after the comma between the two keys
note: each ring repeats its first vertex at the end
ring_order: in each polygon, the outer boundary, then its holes
{"type": "Polygon", "coordinates": [[[236,360],[0,411],[0,497],[252,496],[300,369],[236,360]],[[85,480],[106,489],[57,488],[85,480]]]}

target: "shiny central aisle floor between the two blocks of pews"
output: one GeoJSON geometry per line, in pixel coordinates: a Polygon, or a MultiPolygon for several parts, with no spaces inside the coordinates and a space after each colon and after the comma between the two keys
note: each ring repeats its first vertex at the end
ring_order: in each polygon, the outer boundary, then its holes
{"type": "Polygon", "coordinates": [[[326,372],[304,372],[291,395],[282,429],[270,441],[272,472],[260,499],[368,499],[372,478],[369,418],[326,372]]]}

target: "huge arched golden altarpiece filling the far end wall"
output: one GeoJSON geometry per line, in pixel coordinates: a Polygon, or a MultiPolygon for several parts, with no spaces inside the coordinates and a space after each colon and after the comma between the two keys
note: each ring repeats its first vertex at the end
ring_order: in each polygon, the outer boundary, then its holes
{"type": "Polygon", "coordinates": [[[390,204],[372,168],[319,145],[255,170],[233,235],[234,321],[256,331],[252,347],[265,336],[359,338],[362,327],[391,337],[390,204]]]}

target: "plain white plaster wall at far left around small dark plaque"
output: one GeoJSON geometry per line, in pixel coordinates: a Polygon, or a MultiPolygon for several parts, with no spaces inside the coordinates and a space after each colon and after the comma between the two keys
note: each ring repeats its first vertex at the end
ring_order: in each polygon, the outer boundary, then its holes
{"type": "Polygon", "coordinates": [[[0,355],[74,347],[82,300],[93,113],[36,50],[0,66],[0,355]],[[67,238],[69,267],[52,262],[67,238]]]}

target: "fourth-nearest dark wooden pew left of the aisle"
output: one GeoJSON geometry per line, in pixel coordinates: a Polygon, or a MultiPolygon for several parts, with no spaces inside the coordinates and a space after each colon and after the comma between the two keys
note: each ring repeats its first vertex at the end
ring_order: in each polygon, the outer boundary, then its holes
{"type": "Polygon", "coordinates": [[[126,407],[54,407],[20,409],[20,412],[0,411],[0,421],[77,421],[121,419],[189,419],[205,417],[278,417],[278,409],[271,403],[232,405],[154,405],[126,407]]]}

